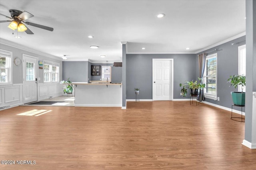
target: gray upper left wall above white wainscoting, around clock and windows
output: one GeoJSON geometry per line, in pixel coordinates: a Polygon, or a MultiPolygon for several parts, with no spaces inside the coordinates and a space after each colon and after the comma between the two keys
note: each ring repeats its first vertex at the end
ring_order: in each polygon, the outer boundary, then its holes
{"type": "MultiPolygon", "coordinates": [[[[26,54],[26,55],[31,55],[33,57],[37,57],[38,58],[38,61],[43,61],[43,60],[48,60],[48,61],[52,61],[52,62],[55,62],[55,63],[59,63],[60,64],[60,81],[62,79],[62,61],[61,59],[60,60],[57,60],[57,59],[53,59],[51,57],[47,57],[47,56],[44,56],[44,55],[39,55],[37,53],[32,53],[32,52],[29,52],[29,51],[26,51],[26,50],[23,50],[23,49],[18,49],[18,48],[15,48],[15,47],[11,47],[11,46],[8,46],[8,45],[4,45],[4,44],[0,44],[0,48],[1,49],[4,49],[4,50],[7,50],[7,51],[12,51],[12,63],[13,63],[13,60],[18,57],[22,60],[22,55],[23,54],[26,54]]],[[[20,64],[20,66],[16,66],[14,64],[12,64],[12,83],[13,84],[22,84],[22,64],[20,64]]],[[[44,82],[44,70],[43,69],[38,69],[38,78],[40,78],[40,80],[38,80],[38,83],[43,83],[44,82]]]]}

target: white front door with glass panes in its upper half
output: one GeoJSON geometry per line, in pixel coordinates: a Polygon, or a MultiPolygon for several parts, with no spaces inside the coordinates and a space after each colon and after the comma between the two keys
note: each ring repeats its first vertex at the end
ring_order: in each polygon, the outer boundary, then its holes
{"type": "Polygon", "coordinates": [[[23,55],[23,103],[37,101],[37,65],[36,57],[23,55]]]}

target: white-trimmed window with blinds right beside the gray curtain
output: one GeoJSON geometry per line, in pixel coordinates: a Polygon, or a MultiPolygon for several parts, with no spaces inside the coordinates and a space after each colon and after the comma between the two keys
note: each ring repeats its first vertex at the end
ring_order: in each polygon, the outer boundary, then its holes
{"type": "Polygon", "coordinates": [[[215,100],[217,98],[217,53],[206,56],[203,82],[206,84],[204,96],[215,100]]]}

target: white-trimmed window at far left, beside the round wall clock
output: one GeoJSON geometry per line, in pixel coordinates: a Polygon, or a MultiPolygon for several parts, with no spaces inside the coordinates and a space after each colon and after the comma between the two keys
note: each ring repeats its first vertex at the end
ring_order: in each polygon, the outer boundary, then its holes
{"type": "Polygon", "coordinates": [[[12,52],[0,49],[0,84],[12,84],[12,52]]]}

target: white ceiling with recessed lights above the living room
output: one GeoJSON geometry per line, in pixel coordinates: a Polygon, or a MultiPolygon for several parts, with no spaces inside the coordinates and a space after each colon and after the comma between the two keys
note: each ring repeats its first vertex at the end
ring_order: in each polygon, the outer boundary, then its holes
{"type": "Polygon", "coordinates": [[[246,29],[245,0],[0,1],[1,14],[10,16],[10,9],[30,12],[34,17],[26,21],[54,31],[28,25],[34,35],[18,32],[17,39],[1,23],[1,39],[70,61],[122,61],[122,41],[128,53],[196,53],[246,29]]]}

